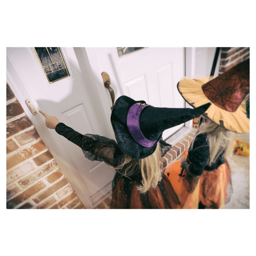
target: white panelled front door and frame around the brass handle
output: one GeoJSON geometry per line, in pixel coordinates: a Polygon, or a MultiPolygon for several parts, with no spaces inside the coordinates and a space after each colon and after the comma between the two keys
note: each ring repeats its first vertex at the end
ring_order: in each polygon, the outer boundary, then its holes
{"type": "MultiPolygon", "coordinates": [[[[116,99],[127,95],[155,107],[184,108],[176,87],[184,76],[184,48],[149,47],[121,58],[116,47],[61,47],[61,52],[70,76],[49,84],[33,48],[7,47],[7,82],[77,195],[91,208],[111,188],[115,171],[87,160],[80,148],[46,128],[44,117],[32,115],[25,100],[82,134],[115,138],[112,102],[101,72],[109,74],[116,99]]],[[[182,125],[166,130],[163,138],[182,125]]]]}

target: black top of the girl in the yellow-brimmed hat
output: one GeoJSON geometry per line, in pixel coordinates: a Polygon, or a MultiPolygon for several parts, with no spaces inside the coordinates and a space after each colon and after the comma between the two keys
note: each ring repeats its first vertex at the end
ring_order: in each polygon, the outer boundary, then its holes
{"type": "MultiPolygon", "coordinates": [[[[221,149],[221,148],[220,148],[221,149]]],[[[188,159],[191,162],[189,171],[194,175],[201,175],[204,170],[213,171],[217,169],[220,164],[225,163],[224,151],[218,156],[215,163],[211,166],[207,165],[210,157],[209,144],[207,141],[207,134],[201,133],[196,135],[193,148],[189,148],[188,159]]]]}

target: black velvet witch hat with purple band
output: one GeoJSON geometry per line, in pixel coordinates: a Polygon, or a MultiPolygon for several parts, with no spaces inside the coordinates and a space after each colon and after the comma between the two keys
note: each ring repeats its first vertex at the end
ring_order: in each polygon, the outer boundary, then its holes
{"type": "Polygon", "coordinates": [[[199,108],[156,108],[127,96],[116,100],[111,124],[120,148],[135,159],[150,156],[164,130],[200,116],[211,104],[199,108]]]}

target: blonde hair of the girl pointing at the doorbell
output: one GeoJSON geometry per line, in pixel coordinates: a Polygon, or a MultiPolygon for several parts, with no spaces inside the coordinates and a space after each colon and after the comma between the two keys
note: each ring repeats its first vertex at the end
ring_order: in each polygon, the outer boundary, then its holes
{"type": "Polygon", "coordinates": [[[134,172],[141,172],[141,184],[137,187],[140,193],[147,192],[150,188],[156,188],[158,182],[162,179],[162,170],[160,168],[161,154],[160,144],[157,143],[155,152],[142,159],[134,159],[125,154],[123,163],[115,167],[116,170],[122,169],[125,166],[125,171],[122,175],[129,178],[134,172]]]}

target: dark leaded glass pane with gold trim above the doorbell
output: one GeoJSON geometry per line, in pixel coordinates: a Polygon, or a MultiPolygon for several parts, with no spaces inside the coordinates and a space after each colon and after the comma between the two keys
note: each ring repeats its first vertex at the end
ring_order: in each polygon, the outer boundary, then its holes
{"type": "Polygon", "coordinates": [[[34,47],[49,83],[69,76],[59,47],[34,47]]]}

